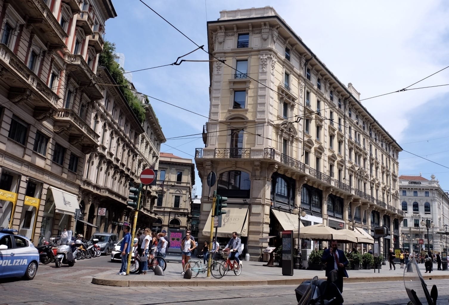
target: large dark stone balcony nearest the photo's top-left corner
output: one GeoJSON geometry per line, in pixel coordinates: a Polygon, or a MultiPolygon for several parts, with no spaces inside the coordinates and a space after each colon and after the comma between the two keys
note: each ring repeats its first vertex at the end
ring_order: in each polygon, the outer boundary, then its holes
{"type": "Polygon", "coordinates": [[[45,39],[44,44],[49,43],[51,49],[66,48],[65,40],[68,35],[47,4],[43,0],[27,0],[24,2],[26,4],[21,5],[20,9],[22,9],[23,15],[28,17],[26,22],[33,25],[37,32],[45,33],[42,35],[42,39],[45,39]]]}

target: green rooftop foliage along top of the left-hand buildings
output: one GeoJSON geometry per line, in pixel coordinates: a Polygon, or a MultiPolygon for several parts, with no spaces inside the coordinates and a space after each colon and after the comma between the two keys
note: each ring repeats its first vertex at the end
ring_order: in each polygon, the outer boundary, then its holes
{"type": "Polygon", "coordinates": [[[126,101],[132,109],[132,112],[137,117],[137,120],[142,124],[145,120],[145,108],[142,103],[137,99],[136,95],[128,88],[128,80],[123,76],[125,70],[115,61],[115,43],[105,41],[103,52],[100,53],[100,59],[98,64],[108,69],[110,75],[114,79],[114,82],[119,86],[119,90],[122,92],[126,101]]]}

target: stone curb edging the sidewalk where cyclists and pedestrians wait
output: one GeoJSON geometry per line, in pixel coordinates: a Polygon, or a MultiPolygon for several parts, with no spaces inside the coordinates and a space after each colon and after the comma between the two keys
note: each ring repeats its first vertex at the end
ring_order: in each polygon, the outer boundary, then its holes
{"type": "MultiPolygon", "coordinates": [[[[449,279],[449,275],[428,275],[423,276],[427,279],[449,279]]],[[[123,279],[102,279],[92,278],[92,284],[105,286],[120,286],[120,287],[208,287],[208,286],[260,286],[260,285],[299,285],[307,279],[269,279],[269,280],[230,280],[230,281],[214,281],[213,279],[205,280],[123,280],[123,279]]],[[[326,278],[324,278],[326,279],[326,278]]],[[[382,276],[382,277],[350,277],[344,278],[345,283],[359,283],[359,282],[389,282],[402,281],[403,276],[382,276]]]]}

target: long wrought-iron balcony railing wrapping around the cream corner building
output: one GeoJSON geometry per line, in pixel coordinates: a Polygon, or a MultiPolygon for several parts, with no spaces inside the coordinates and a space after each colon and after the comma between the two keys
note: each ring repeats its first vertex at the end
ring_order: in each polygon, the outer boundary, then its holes
{"type": "Polygon", "coordinates": [[[303,172],[304,174],[311,176],[317,180],[324,182],[326,185],[333,186],[337,189],[342,190],[345,193],[352,194],[361,198],[364,201],[373,203],[384,210],[390,210],[396,214],[404,216],[404,212],[402,210],[396,209],[391,205],[387,205],[385,202],[382,202],[367,193],[355,189],[345,183],[326,175],[320,171],[317,171],[314,168],[310,168],[308,165],[296,160],[290,156],[284,155],[274,148],[238,148],[238,150],[244,151],[244,153],[240,155],[233,155],[230,152],[234,150],[233,148],[197,148],[195,150],[195,159],[272,159],[279,163],[285,164],[291,168],[299,172],[303,172]],[[240,156],[240,157],[238,157],[240,156]]]}

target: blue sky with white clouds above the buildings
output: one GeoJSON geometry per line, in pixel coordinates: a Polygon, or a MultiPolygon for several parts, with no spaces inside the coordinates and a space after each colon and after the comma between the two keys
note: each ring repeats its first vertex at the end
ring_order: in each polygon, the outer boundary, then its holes
{"type": "MultiPolygon", "coordinates": [[[[171,64],[196,48],[141,1],[112,1],[118,16],[106,21],[106,40],[124,53],[127,71],[171,64]]],[[[304,0],[143,1],[206,50],[206,22],[217,20],[221,10],[273,6],[343,84],[351,82],[361,92],[361,99],[401,90],[449,66],[449,2],[444,0],[321,0],[319,5],[304,0]]],[[[198,50],[184,59],[208,56],[198,50]]],[[[202,132],[209,111],[208,63],[183,62],[134,72],[132,81],[152,97],[166,138],[202,132]]],[[[409,89],[444,84],[449,84],[449,68],[409,89]]],[[[430,179],[433,173],[445,190],[449,190],[448,101],[449,86],[440,86],[361,102],[404,149],[399,154],[400,175],[421,173],[430,179]]],[[[166,144],[161,152],[191,159],[195,148],[204,147],[199,135],[169,139],[166,144]]],[[[195,182],[196,194],[201,195],[198,173],[195,182]]]]}

